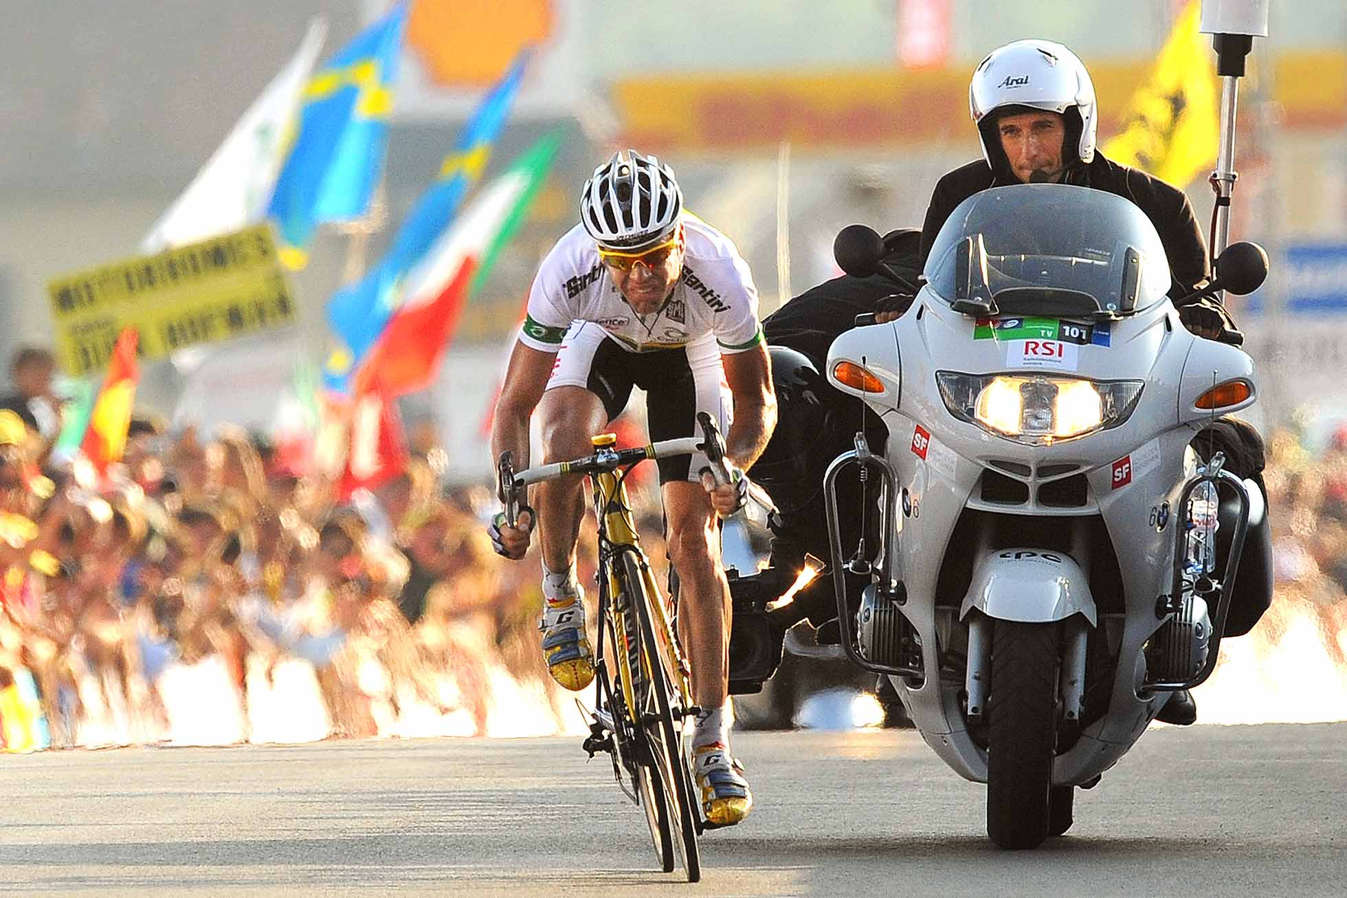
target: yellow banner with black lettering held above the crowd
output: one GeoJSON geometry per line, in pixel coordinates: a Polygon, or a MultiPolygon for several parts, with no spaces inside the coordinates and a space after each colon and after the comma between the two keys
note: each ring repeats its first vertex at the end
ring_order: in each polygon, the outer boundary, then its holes
{"type": "Polygon", "coordinates": [[[145,359],[295,321],[271,225],[127,259],[47,285],[61,361],[70,375],[101,371],[123,328],[140,332],[145,359]]]}

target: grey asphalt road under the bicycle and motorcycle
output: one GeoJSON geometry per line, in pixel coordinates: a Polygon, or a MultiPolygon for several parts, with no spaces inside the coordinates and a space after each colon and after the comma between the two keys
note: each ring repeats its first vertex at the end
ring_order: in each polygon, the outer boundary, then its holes
{"type": "Polygon", "coordinates": [[[758,809],[703,837],[698,886],[575,739],[0,756],[0,894],[1347,894],[1347,724],[1153,731],[1016,854],[912,732],[735,751],[758,809]]]}

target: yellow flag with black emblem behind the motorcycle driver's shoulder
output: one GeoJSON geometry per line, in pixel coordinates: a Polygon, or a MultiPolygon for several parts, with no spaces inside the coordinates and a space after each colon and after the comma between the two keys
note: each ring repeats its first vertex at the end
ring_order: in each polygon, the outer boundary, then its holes
{"type": "Polygon", "coordinates": [[[1220,123],[1216,66],[1191,0],[1165,40],[1154,71],[1131,97],[1122,131],[1103,155],[1180,187],[1216,163],[1220,123]]]}

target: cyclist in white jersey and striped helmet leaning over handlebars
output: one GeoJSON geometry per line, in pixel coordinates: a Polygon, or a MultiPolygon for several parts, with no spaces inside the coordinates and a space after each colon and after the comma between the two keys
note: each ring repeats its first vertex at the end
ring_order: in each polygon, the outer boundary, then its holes
{"type": "MultiPolygon", "coordinates": [[[[544,464],[589,454],[590,436],[621,414],[633,386],[647,392],[652,441],[696,436],[698,411],[719,421],[729,484],[715,487],[700,473],[702,456],[661,460],[659,469],[669,560],[682,584],[679,635],[692,701],[702,709],[692,731],[694,773],[707,820],[735,824],[753,798],[729,754],[730,592],[717,514],[744,503],[742,472],[776,423],[757,289],[730,239],[683,209],[672,169],[655,156],[614,154],[585,183],[579,213],[581,224],[552,247],[533,279],[496,406],[492,453],[509,450],[516,467],[525,467],[536,410],[544,464]]],[[[536,520],[525,511],[509,527],[497,515],[490,529],[508,558],[521,558],[535,525],[540,529],[543,654],[567,689],[583,689],[594,677],[575,577],[582,491],[579,476],[539,484],[536,520]]]]}

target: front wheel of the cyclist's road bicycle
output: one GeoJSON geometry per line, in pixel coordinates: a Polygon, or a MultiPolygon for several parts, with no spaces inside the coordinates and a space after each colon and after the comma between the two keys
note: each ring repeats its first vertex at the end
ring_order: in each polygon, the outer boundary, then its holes
{"type": "MultiPolygon", "coordinates": [[[[696,835],[700,824],[700,810],[688,785],[687,754],[683,750],[683,700],[674,692],[674,658],[665,647],[665,642],[659,638],[651,613],[651,601],[659,601],[657,596],[651,596],[645,591],[645,578],[634,553],[622,553],[622,578],[626,581],[630,604],[636,611],[640,623],[640,677],[648,677],[648,689],[641,701],[641,728],[651,748],[652,759],[659,770],[664,785],[665,797],[671,798],[671,810],[678,812],[678,848],[679,860],[687,871],[688,882],[702,879],[702,854],[696,844],[696,835]],[[675,720],[674,709],[679,709],[675,720]]],[[[672,634],[669,634],[672,638],[672,634]]],[[[637,693],[640,696],[640,692],[637,693]]]]}

